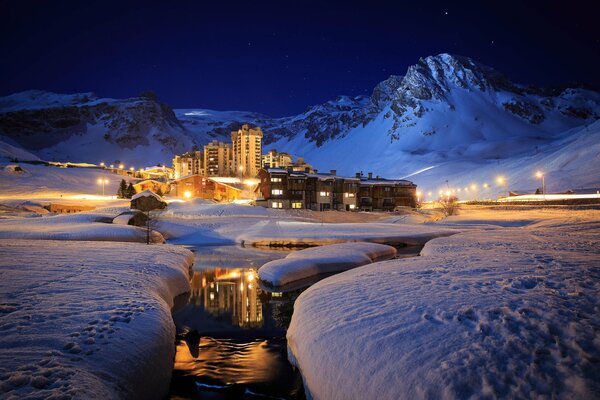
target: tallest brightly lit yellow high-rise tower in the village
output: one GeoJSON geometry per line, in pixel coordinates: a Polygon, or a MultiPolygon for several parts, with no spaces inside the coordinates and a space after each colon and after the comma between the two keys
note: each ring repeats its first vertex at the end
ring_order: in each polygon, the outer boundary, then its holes
{"type": "Polygon", "coordinates": [[[254,178],[262,164],[262,130],[244,124],[231,132],[233,149],[233,173],[241,178],[254,178]]]}

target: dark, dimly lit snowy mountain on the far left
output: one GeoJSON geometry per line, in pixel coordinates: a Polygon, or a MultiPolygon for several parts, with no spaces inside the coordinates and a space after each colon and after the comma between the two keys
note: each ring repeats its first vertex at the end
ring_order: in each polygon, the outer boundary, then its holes
{"type": "Polygon", "coordinates": [[[128,165],[170,162],[193,145],[152,94],[117,100],[30,90],[0,98],[0,135],[42,159],[128,165]]]}

